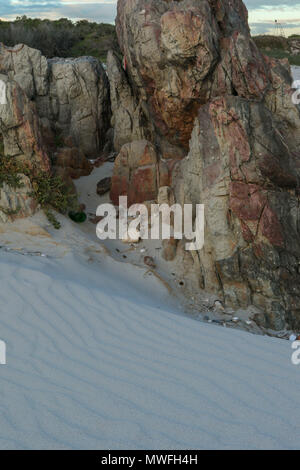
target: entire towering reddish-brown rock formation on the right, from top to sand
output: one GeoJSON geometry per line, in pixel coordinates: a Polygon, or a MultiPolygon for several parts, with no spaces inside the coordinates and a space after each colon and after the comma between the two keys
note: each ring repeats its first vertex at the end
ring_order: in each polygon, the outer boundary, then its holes
{"type": "Polygon", "coordinates": [[[192,290],[255,305],[264,326],[299,328],[300,118],[288,63],[259,52],[240,0],[119,0],[116,24],[126,67],[109,54],[112,199],[168,186],[177,202],[205,204],[204,249],[177,248],[192,290]]]}

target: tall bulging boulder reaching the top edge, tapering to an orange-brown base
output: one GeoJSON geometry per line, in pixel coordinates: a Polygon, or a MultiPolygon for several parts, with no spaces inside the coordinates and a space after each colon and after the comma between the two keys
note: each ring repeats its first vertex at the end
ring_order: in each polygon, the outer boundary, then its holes
{"type": "Polygon", "coordinates": [[[240,0],[119,0],[117,31],[164,158],[186,153],[199,106],[212,96],[261,98],[270,84],[240,0]]]}

